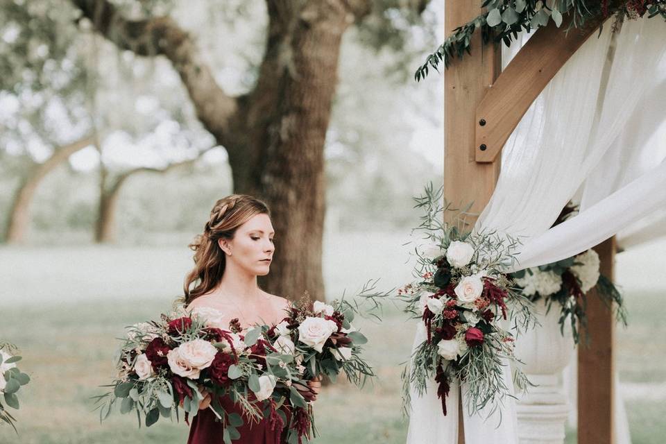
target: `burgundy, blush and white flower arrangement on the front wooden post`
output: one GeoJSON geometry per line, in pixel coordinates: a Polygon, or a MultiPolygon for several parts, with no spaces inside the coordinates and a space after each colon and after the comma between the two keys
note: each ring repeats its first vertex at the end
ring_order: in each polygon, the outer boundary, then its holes
{"type": "MultiPolygon", "coordinates": [[[[502,367],[515,360],[514,336],[504,325],[513,321],[515,330],[526,328],[529,301],[501,271],[515,260],[518,242],[441,222],[443,212],[453,210],[439,205],[440,198],[432,189],[416,198],[416,206],[426,210],[417,230],[425,233],[428,244],[416,249],[418,280],[398,291],[406,311],[420,318],[426,332],[403,372],[404,406],[408,412],[411,387],[422,395],[434,378],[446,414],[450,384],[457,379],[468,384],[465,402],[475,413],[488,403],[496,407],[511,394],[502,367]]],[[[455,221],[464,223],[461,216],[455,221]]],[[[515,371],[515,382],[519,388],[527,384],[520,370],[515,371]]]]}

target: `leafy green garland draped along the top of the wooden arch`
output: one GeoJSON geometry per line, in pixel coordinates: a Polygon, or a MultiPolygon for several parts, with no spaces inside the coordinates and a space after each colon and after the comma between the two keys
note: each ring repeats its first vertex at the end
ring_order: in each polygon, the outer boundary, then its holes
{"type": "Polygon", "coordinates": [[[417,81],[425,78],[431,67],[438,71],[441,62],[449,67],[454,58],[470,53],[472,35],[477,30],[481,31],[484,44],[493,41],[511,46],[518,33],[547,26],[551,20],[567,31],[585,26],[597,28],[610,16],[615,17],[613,26],[624,19],[646,15],[666,20],[666,0],[484,0],[481,6],[486,8],[484,13],[454,29],[418,67],[414,74],[417,81]]]}

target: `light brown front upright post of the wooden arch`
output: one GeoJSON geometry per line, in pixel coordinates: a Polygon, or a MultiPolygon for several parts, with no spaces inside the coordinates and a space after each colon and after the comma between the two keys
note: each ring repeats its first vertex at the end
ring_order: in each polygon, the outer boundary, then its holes
{"type": "MultiPolygon", "coordinates": [[[[481,2],[447,0],[445,35],[481,13],[481,2]]],[[[444,73],[444,196],[454,205],[473,202],[471,211],[481,212],[490,200],[499,176],[499,162],[475,161],[475,112],[477,105],[499,74],[501,52],[494,44],[482,45],[481,33],[472,37],[471,54],[444,73]]],[[[447,216],[447,215],[445,215],[447,216]]],[[[470,224],[475,217],[470,218],[470,224]]],[[[462,402],[462,396],[460,397],[462,402]]],[[[458,444],[465,443],[459,404],[458,444]]]]}

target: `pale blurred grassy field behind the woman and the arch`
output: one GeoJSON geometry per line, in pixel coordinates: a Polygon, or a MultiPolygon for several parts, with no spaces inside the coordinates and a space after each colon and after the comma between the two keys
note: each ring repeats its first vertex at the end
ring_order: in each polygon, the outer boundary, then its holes
{"type": "MultiPolygon", "coordinates": [[[[355,291],[367,278],[388,277],[384,288],[409,279],[401,244],[398,236],[328,239],[329,296],[339,296],[345,287],[355,291]]],[[[170,296],[157,295],[178,293],[182,274],[171,274],[187,268],[188,261],[184,248],[0,249],[0,336],[22,348],[21,368],[33,378],[19,392],[19,435],[0,427],[0,443],[185,443],[182,422],[160,420],[139,429],[134,416],[115,413],[100,424],[89,398],[113,376],[114,337],[123,326],[168,309],[170,296]],[[90,274],[103,269],[104,275],[90,274]],[[164,280],[157,281],[160,269],[164,280]],[[98,282],[97,291],[90,282],[98,282]],[[157,289],[152,296],[151,287],[157,289]],[[42,293],[31,298],[35,289],[42,293]],[[109,296],[114,293],[119,297],[109,296]]],[[[660,443],[666,436],[666,321],[654,309],[663,307],[661,301],[659,291],[626,289],[631,325],[617,331],[617,367],[634,444],[660,443]]],[[[325,388],[315,407],[321,432],[316,443],[404,443],[400,363],[409,355],[416,326],[388,307],[384,323],[360,321],[359,327],[370,339],[367,357],[379,378],[363,391],[348,384],[325,388]]],[[[567,442],[574,443],[569,435],[567,442]]]]}

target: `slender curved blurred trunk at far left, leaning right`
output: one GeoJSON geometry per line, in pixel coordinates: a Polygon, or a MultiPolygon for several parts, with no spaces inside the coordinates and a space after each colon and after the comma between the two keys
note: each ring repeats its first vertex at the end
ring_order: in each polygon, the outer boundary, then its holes
{"type": "Polygon", "coordinates": [[[5,234],[5,241],[8,244],[19,244],[25,241],[30,223],[30,204],[35,196],[37,187],[39,187],[46,175],[67,160],[70,155],[92,143],[92,137],[85,137],[73,144],[57,148],[46,162],[33,166],[28,176],[19,185],[8,213],[5,234]]]}

